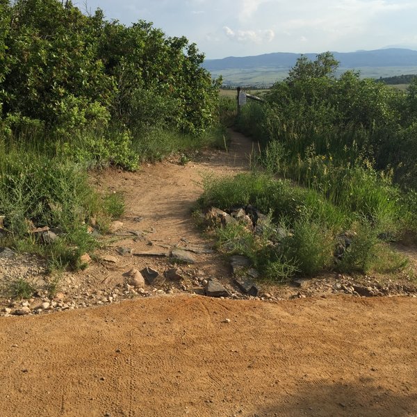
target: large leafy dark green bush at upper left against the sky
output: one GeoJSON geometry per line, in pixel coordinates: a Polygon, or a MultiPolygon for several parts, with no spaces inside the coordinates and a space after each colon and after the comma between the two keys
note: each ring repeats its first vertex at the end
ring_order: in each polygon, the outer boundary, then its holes
{"type": "Polygon", "coordinates": [[[3,117],[68,136],[109,123],[202,133],[215,119],[217,82],[186,38],[108,22],[101,10],[85,16],[70,1],[1,1],[0,13],[3,117]]]}

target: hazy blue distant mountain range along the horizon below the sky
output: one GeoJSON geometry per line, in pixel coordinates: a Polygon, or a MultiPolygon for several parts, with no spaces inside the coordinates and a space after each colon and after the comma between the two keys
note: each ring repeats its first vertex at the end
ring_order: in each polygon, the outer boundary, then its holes
{"type": "MultiPolygon", "coordinates": [[[[342,68],[359,67],[417,67],[417,51],[412,49],[388,48],[374,51],[332,52],[334,58],[340,61],[342,68]]],[[[250,70],[252,68],[281,68],[288,69],[294,66],[297,58],[304,55],[311,60],[317,54],[291,54],[277,52],[257,56],[235,57],[205,60],[203,66],[211,72],[222,70],[250,70]]]]}

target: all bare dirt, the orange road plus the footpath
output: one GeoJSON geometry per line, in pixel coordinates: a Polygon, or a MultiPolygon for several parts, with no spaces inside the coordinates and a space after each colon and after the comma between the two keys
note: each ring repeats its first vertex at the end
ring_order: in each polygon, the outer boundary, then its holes
{"type": "MultiPolygon", "coordinates": [[[[203,243],[190,220],[201,174],[246,170],[251,153],[251,143],[234,134],[227,154],[138,173],[107,171],[95,182],[124,192],[122,231],[149,230],[154,247],[181,238],[203,243]]],[[[85,299],[92,289],[121,284],[132,266],[166,268],[165,259],[115,252],[147,243],[116,234],[101,255],[113,254],[117,263],[68,275],[60,291],[85,299]]],[[[229,277],[219,255],[196,258],[184,267],[190,281],[196,270],[229,277]]],[[[180,292],[0,317],[0,417],[417,416],[416,298],[323,295],[272,303],[180,292]]]]}

